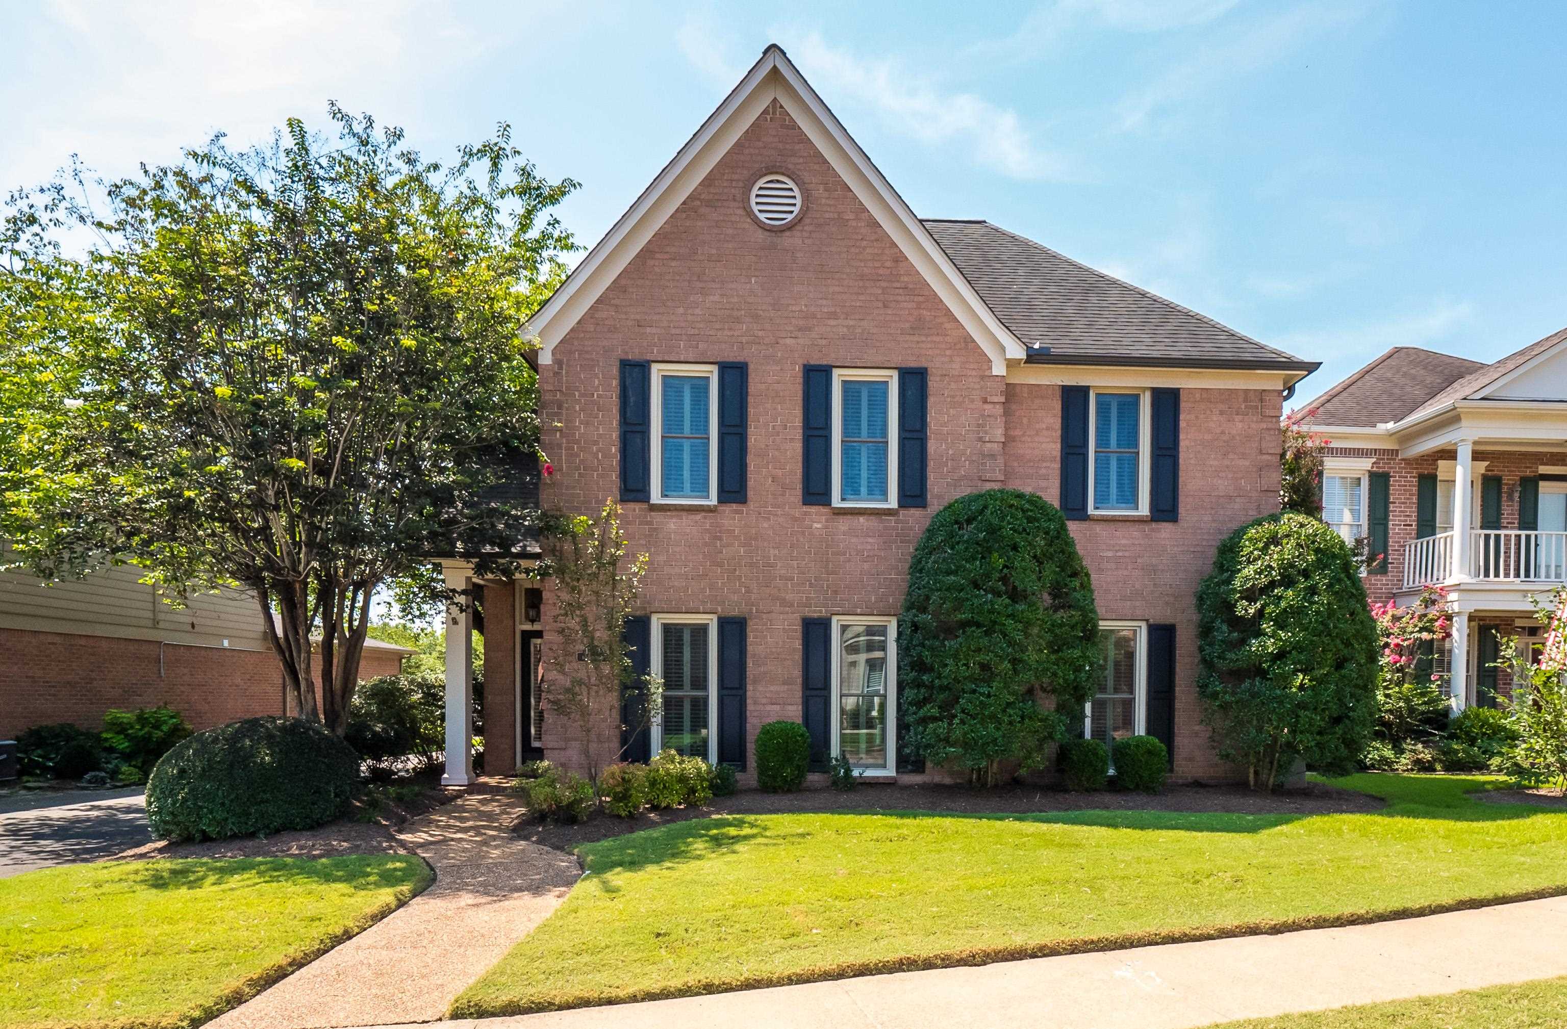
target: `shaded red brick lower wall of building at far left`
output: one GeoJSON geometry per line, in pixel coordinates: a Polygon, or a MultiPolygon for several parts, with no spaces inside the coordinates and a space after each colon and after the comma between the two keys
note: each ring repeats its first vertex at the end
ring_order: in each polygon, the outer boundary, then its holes
{"type": "MultiPolygon", "coordinates": [[[[396,653],[367,648],[360,677],[393,675],[400,667],[396,653]]],[[[282,670],[271,652],[0,630],[3,739],[45,722],[102,728],[110,708],[160,703],[197,730],[282,714],[282,670]]]]}

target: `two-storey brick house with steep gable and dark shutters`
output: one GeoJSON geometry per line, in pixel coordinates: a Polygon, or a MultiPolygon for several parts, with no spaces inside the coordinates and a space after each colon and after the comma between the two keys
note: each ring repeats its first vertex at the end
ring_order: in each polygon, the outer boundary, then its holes
{"type": "MultiPolygon", "coordinates": [[[[627,633],[666,702],[632,756],[749,775],[758,727],[791,719],[816,769],[912,774],[909,556],[943,504],[1006,486],[1062,507],[1094,576],[1108,663],[1086,731],[1156,735],[1180,778],[1230,774],[1199,720],[1192,598],[1218,542],[1279,509],[1282,401],[1316,365],[989,222],[915,218],[776,47],[533,330],[545,506],[617,498],[650,554],[627,633]]],[[[534,688],[548,590],[483,586],[487,767],[578,764],[534,688]]],[[[447,636],[453,741],[469,617],[447,636]]]]}

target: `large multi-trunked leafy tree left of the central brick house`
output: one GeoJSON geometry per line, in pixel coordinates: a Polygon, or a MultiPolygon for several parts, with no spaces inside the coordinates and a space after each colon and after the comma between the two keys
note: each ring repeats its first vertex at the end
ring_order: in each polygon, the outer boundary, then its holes
{"type": "Polygon", "coordinates": [[[436,589],[432,554],[509,573],[537,520],[492,487],[537,453],[523,326],[577,183],[506,125],[440,164],[329,114],[11,197],[0,536],[45,578],[248,590],[296,709],[342,733],[376,589],[436,589]]]}

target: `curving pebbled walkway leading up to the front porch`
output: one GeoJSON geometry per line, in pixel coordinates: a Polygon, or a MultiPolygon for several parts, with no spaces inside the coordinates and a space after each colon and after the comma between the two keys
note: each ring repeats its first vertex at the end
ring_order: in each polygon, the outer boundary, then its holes
{"type": "Polygon", "coordinates": [[[212,1029],[329,1029],[434,1021],[548,916],[577,860],[514,839],[522,805],[465,796],[398,833],[436,883],[390,916],[208,1023],[212,1029]]]}

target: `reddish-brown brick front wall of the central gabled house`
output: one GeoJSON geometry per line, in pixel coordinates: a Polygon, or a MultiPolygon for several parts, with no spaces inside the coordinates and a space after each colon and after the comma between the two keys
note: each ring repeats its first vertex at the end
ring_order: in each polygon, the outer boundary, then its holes
{"type": "MultiPolygon", "coordinates": [[[[1059,393],[1008,387],[898,246],[777,105],[763,114],[621,271],[541,366],[545,504],[597,511],[617,493],[617,362],[749,362],[749,503],[710,511],[627,504],[633,551],[652,554],[639,609],[744,616],[747,720],[801,717],[801,617],[898,614],[909,554],[931,514],[992,486],[1055,501],[1059,393]],[[743,197],[782,169],[805,215],[760,229],[743,197]],[[801,504],[802,363],[929,368],[929,507],[845,512],[801,504]]],[[[1182,522],[1084,525],[1106,617],[1182,626],[1177,772],[1219,769],[1196,741],[1191,597],[1214,542],[1277,509],[1277,393],[1183,392],[1182,522]]],[[[545,597],[545,647],[555,617],[545,597]]],[[[617,744],[603,727],[605,749],[617,744]]],[[[545,752],[577,739],[547,720],[545,752]]],[[[747,755],[751,753],[747,739],[747,755]]]]}

